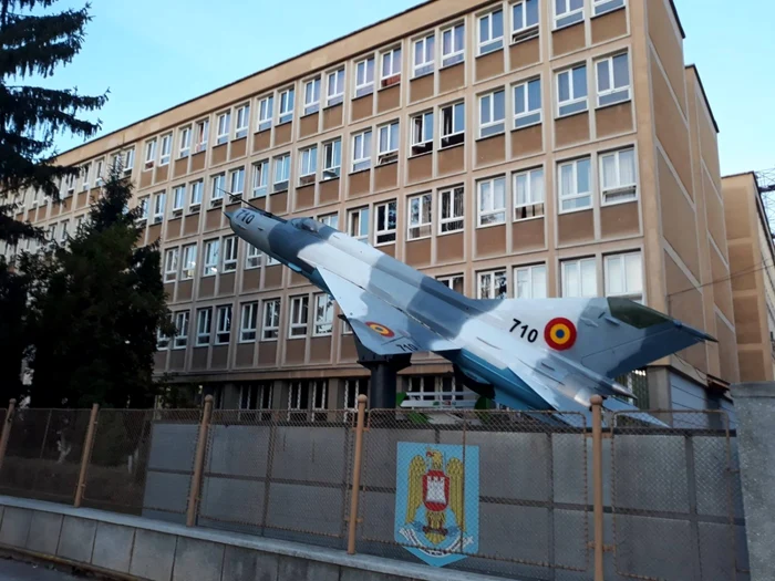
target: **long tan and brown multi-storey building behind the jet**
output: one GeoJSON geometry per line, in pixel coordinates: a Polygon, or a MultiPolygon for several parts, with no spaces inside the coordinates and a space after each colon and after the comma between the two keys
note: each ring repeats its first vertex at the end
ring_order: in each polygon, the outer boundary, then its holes
{"type": "MultiPolygon", "coordinates": [[[[121,159],[179,329],[157,371],[223,405],[351,406],[366,377],[330,301],[227,228],[231,193],[472,297],[679,317],[720,343],[640,373],[641,405],[703,407],[738,371],[717,127],[683,38],[671,0],[427,2],[63,154],[81,178],[19,218],[65,236],[121,159]]],[[[450,371],[416,356],[405,386],[450,371]]]]}

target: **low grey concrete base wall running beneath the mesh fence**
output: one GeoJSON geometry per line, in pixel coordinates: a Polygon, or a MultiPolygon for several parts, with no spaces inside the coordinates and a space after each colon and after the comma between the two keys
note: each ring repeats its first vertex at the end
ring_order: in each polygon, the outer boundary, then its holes
{"type": "Polygon", "coordinates": [[[0,496],[0,549],[153,581],[503,581],[390,559],[0,496]]]}

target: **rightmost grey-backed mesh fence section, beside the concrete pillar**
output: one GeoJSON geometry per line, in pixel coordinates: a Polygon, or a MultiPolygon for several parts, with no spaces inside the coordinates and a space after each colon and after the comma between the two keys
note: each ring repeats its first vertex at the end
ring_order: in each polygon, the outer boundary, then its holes
{"type": "Polygon", "coordinates": [[[611,426],[616,570],[658,581],[747,570],[736,442],[723,412],[617,413],[611,426]],[[659,558],[655,558],[659,556],[659,558]]]}

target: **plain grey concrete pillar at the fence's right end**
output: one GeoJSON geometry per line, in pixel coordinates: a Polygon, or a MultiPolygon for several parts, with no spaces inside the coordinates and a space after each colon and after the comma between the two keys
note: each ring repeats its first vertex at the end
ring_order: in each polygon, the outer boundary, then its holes
{"type": "Polygon", "coordinates": [[[775,571],[775,382],[732,386],[751,581],[775,571]]]}

